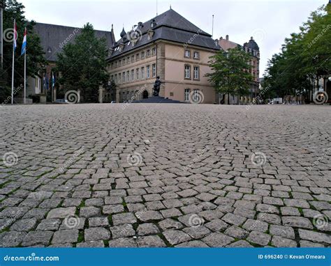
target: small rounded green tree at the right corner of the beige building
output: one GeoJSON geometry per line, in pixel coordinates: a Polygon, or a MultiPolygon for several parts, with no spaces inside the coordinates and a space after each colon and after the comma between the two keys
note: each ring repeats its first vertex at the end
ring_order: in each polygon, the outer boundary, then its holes
{"type": "MultiPolygon", "coordinates": [[[[209,81],[216,91],[228,95],[248,95],[253,77],[250,73],[251,56],[241,47],[219,51],[211,57],[209,66],[212,72],[207,73],[209,81]]],[[[230,103],[228,97],[228,104],[230,103]]]]}

